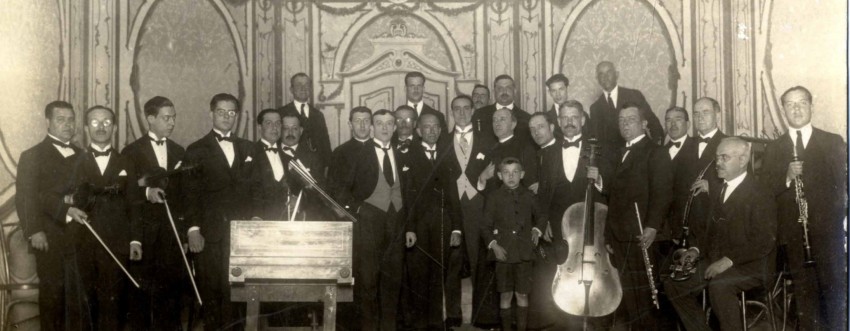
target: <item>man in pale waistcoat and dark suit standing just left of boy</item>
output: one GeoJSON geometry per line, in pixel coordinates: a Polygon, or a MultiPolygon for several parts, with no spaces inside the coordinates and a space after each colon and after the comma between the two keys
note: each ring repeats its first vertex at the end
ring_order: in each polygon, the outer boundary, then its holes
{"type": "Polygon", "coordinates": [[[473,324],[496,324],[499,323],[498,315],[498,292],[495,285],[488,286],[488,280],[492,275],[492,266],[489,274],[480,277],[478,272],[479,252],[484,252],[485,247],[480,241],[480,226],[484,217],[484,195],[478,191],[475,183],[478,176],[487,167],[485,155],[495,144],[495,141],[473,129],[472,98],[459,95],[452,100],[452,117],[455,127],[451,134],[451,144],[444,154],[448,160],[445,161],[448,168],[448,177],[452,188],[447,192],[451,200],[451,206],[460,209],[461,233],[463,235],[463,248],[466,250],[466,262],[469,265],[470,279],[473,287],[473,324]],[[486,291],[488,295],[483,295],[486,291]],[[489,298],[489,301],[486,299],[489,298]],[[485,301],[482,301],[484,299],[485,301]]]}

